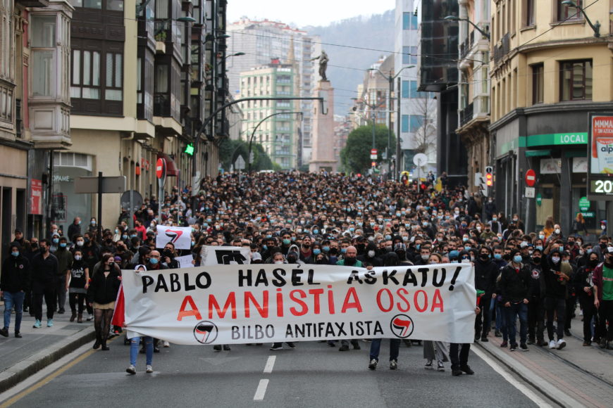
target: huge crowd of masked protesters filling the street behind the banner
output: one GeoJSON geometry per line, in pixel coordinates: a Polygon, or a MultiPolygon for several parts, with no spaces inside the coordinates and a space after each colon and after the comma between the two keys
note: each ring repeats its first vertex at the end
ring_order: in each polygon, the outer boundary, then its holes
{"type": "MultiPolygon", "coordinates": [[[[481,200],[462,186],[447,186],[446,177],[438,185],[429,177],[418,185],[298,172],[239,180],[237,174],[204,179],[194,198],[189,186],[175,187],[161,198],[160,214],[158,198],[146,198],[133,227],[123,210],[112,228],[99,229],[94,218],[82,226],[77,217],[67,231],[54,225],[40,239],[16,231],[2,266],[0,286],[9,312],[0,334],[8,336],[10,307],[29,310],[40,327],[44,299],[50,326],[54,312],[65,312],[68,295],[71,321],[82,322],[87,312],[85,319],[93,318],[97,328],[94,348],[108,350],[121,269],[177,268],[175,258],[189,254],[198,266],[204,246],[245,246],[252,263],[378,267],[472,262],[481,294],[475,341],[493,335],[502,337],[509,351],[527,351],[528,345],[559,350],[566,345],[574,314],[581,313],[583,345],[613,348],[613,330],[607,330],[613,319],[612,239],[603,229],[588,240],[580,217],[573,231],[564,231],[552,217],[543,229],[525,231],[518,215],[498,212],[491,198],[481,200]],[[158,224],[191,227],[192,249],[175,250],[172,243],[156,248],[158,224]],[[24,268],[27,274],[16,273],[24,268]]],[[[19,312],[16,336],[20,322],[19,312]]],[[[375,354],[371,348],[371,369],[378,362],[378,344],[375,354]]],[[[280,343],[273,345],[273,350],[280,348],[280,343]]],[[[340,350],[349,350],[349,343],[340,350]]],[[[439,342],[424,344],[425,356],[426,351],[426,368],[434,362],[440,369],[447,360],[448,351],[439,342]]],[[[394,364],[396,359],[397,354],[390,356],[394,364]]],[[[452,370],[471,374],[465,359],[454,364],[452,358],[452,370]]]]}

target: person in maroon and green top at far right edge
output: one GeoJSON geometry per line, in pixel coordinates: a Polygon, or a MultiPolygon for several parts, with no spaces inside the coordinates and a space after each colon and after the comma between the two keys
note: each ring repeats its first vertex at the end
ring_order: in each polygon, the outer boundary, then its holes
{"type": "Polygon", "coordinates": [[[613,350],[613,248],[608,247],[605,253],[605,263],[595,267],[592,274],[594,306],[598,310],[600,321],[600,347],[613,350]],[[607,321],[609,329],[607,330],[607,321]]]}

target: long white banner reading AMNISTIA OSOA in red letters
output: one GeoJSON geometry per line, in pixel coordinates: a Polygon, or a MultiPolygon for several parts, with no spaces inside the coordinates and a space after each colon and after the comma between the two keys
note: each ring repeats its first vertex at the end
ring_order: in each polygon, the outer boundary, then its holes
{"type": "Polygon", "coordinates": [[[128,338],[185,345],[414,338],[472,343],[471,264],[217,265],[123,272],[128,338]]]}

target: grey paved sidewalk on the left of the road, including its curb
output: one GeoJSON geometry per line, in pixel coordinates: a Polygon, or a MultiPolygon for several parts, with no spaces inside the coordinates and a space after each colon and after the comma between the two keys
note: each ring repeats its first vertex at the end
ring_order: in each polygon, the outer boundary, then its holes
{"type": "MultiPolygon", "coordinates": [[[[0,302],[4,312],[4,302],[0,302]]],[[[47,327],[43,307],[43,321],[40,329],[34,329],[34,317],[23,314],[21,335],[15,338],[15,314],[11,314],[9,336],[0,336],[0,393],[13,387],[28,376],[56,362],[81,345],[94,340],[94,322],[70,322],[70,310],[65,314],[54,314],[54,326],[47,327]]],[[[85,315],[87,316],[87,314],[85,315]]],[[[4,319],[4,317],[3,317],[4,319]]]]}

